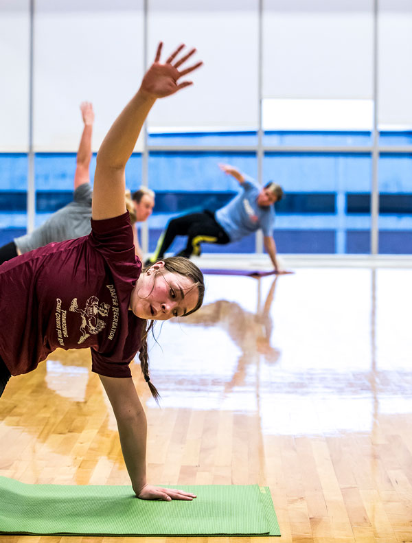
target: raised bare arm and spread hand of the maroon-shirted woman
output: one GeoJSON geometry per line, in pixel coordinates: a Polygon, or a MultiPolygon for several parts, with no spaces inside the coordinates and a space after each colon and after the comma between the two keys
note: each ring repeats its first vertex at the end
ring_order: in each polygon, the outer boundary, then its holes
{"type": "Polygon", "coordinates": [[[157,47],[155,62],[144,76],[139,91],[117,117],[100,146],[93,186],[93,219],[108,219],[126,211],[124,169],[150,108],[157,98],[170,96],[192,84],[190,81],[179,80],[202,64],[196,62],[193,66],[180,69],[196,51],[191,49],[180,60],[176,60],[184,45],[180,45],[161,64],[162,46],[160,43],[157,47]]]}

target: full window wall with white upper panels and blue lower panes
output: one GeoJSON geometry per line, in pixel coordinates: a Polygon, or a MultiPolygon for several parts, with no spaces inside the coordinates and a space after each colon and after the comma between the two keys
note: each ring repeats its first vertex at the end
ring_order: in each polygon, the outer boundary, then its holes
{"type": "MultiPolygon", "coordinates": [[[[163,41],[164,54],[196,47],[204,66],[187,76],[194,86],[157,102],[126,169],[132,192],[143,183],[157,194],[145,249],[170,218],[215,211],[240,190],[224,162],[284,188],[282,253],[369,254],[378,233],[378,252],[411,254],[412,6],[376,2],[36,0],[31,19],[29,0],[3,0],[0,243],[25,232],[27,215],[38,225],[69,202],[80,102],[95,108],[95,153],[163,41]]],[[[94,167],[95,155],[92,182],[94,167]]],[[[259,240],[203,252],[254,253],[259,240]]]]}

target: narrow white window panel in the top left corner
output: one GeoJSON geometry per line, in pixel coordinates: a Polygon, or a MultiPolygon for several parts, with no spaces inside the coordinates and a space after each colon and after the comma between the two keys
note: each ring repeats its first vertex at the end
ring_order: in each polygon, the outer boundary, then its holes
{"type": "Polygon", "coordinates": [[[29,122],[28,0],[0,1],[0,152],[27,152],[29,122]]]}

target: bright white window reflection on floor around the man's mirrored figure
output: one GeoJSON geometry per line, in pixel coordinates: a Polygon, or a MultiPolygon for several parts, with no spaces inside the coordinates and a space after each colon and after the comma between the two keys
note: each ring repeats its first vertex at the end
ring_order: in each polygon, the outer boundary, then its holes
{"type": "MultiPolygon", "coordinates": [[[[238,302],[209,297],[196,314],[165,323],[159,341],[168,354],[152,348],[165,406],[259,413],[263,431],[273,435],[367,432],[379,415],[412,413],[412,377],[403,362],[411,335],[398,338],[390,356],[380,351],[406,326],[407,311],[392,310],[390,324],[385,313],[394,305],[395,278],[410,307],[408,276],[299,270],[270,284],[255,281],[248,309],[241,288],[238,302]]],[[[219,278],[209,281],[216,296],[219,278]]],[[[234,290],[232,284],[231,296],[234,290]]]]}

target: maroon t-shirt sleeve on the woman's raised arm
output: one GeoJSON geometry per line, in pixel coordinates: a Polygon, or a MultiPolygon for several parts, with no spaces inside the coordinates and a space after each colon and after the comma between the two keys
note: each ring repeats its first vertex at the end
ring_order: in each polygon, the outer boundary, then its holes
{"type": "Polygon", "coordinates": [[[89,242],[106,258],[135,262],[133,229],[128,211],[111,219],[92,219],[89,242]]]}

